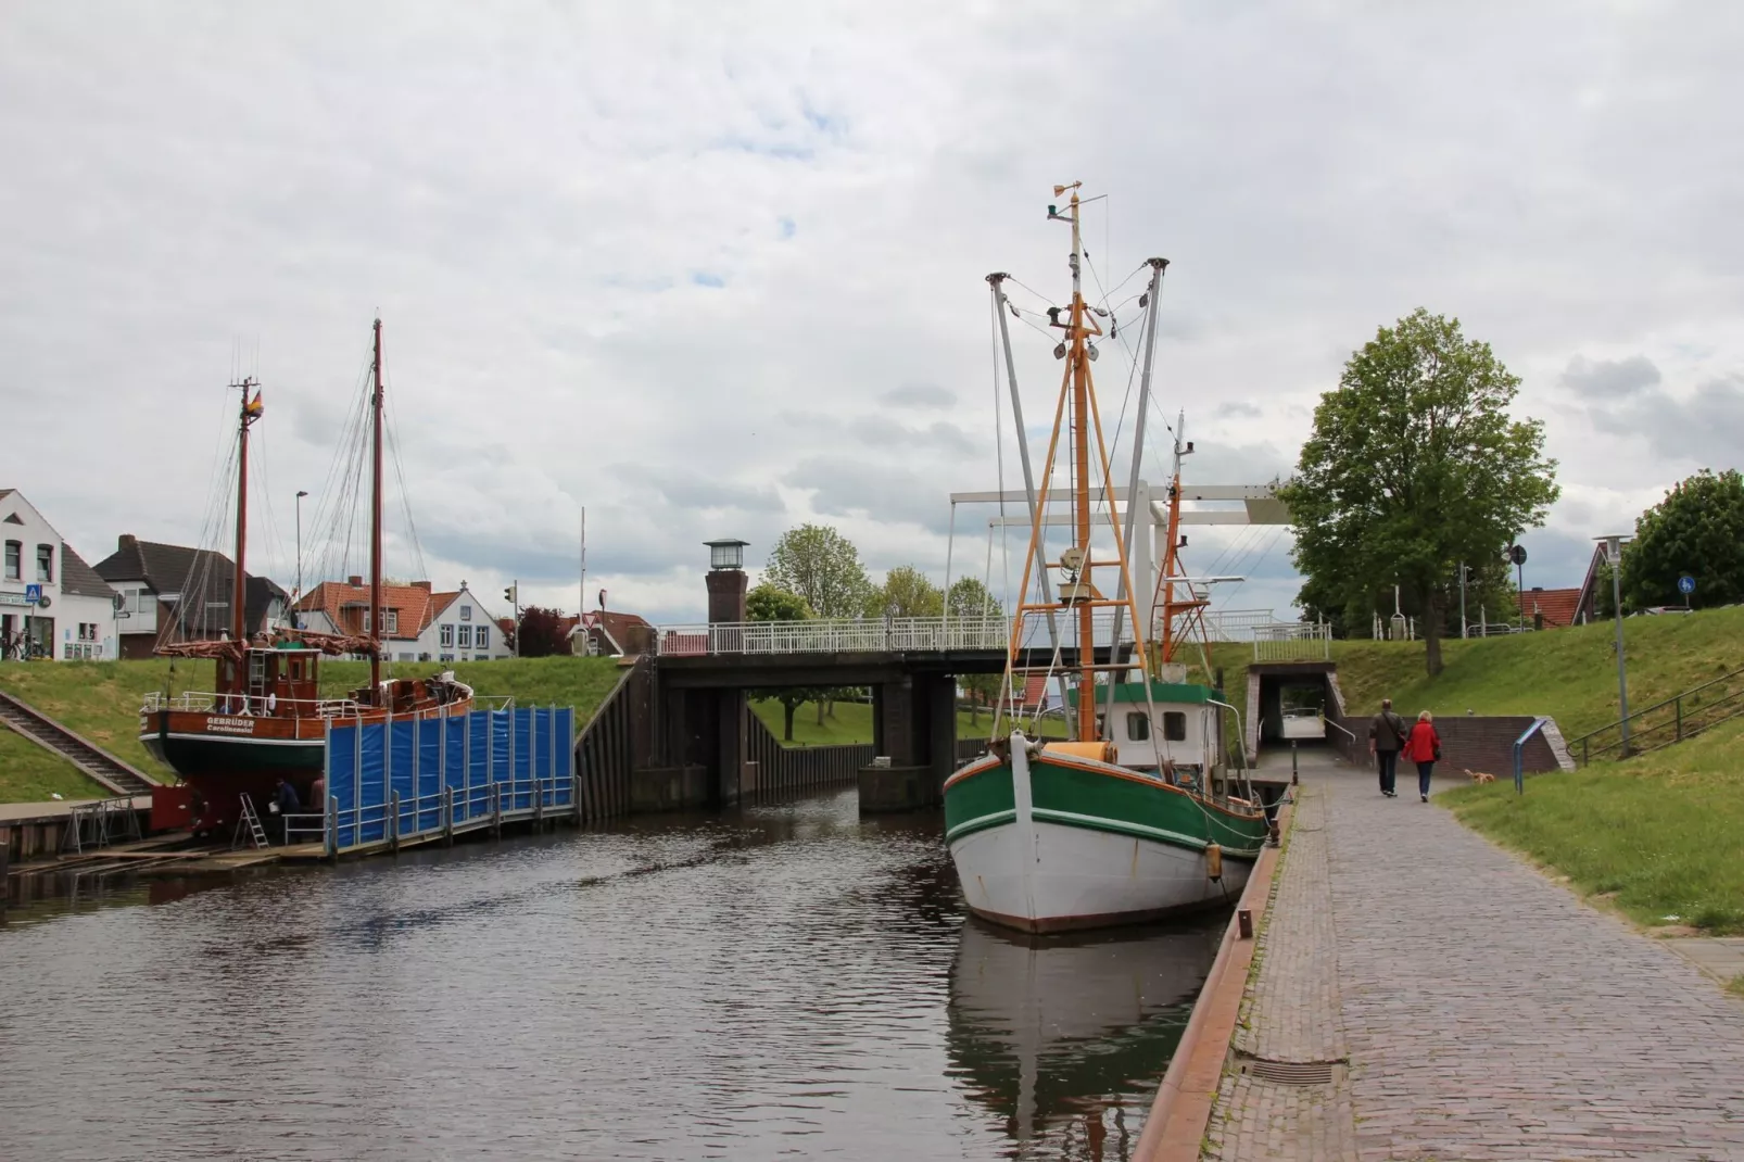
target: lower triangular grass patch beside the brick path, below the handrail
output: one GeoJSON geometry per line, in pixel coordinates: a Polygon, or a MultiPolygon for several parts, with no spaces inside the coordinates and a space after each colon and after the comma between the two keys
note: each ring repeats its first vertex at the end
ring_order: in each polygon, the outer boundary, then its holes
{"type": "Polygon", "coordinates": [[[1643,925],[1744,933],[1744,719],[1625,762],[1439,797],[1643,925]],[[1667,919],[1676,916],[1678,919],[1667,919]]]}

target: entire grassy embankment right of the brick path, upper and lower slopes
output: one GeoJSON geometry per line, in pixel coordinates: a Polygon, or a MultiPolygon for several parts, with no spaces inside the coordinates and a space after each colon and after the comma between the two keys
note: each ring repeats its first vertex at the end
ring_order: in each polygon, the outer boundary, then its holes
{"type": "MultiPolygon", "coordinates": [[[[1611,623],[1446,642],[1423,673],[1421,644],[1338,642],[1353,714],[1383,696],[1407,717],[1547,714],[1570,740],[1617,719],[1611,623]]],[[[1624,621],[1629,703],[1641,710],[1744,666],[1744,609],[1624,621]]],[[[1650,926],[1744,932],[1744,721],[1624,762],[1505,780],[1439,799],[1468,827],[1568,876],[1650,926]],[[1672,919],[1674,918],[1674,919],[1672,919]]]]}

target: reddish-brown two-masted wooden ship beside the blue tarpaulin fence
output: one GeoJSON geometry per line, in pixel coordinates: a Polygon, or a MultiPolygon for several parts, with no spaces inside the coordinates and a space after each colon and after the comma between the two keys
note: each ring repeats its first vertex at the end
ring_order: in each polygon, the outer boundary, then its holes
{"type": "MultiPolygon", "coordinates": [[[[473,689],[453,673],[426,679],[382,677],[382,321],[375,321],[370,386],[370,611],[358,633],[317,633],[291,626],[248,635],[244,564],[248,558],[248,434],[263,412],[260,387],[242,393],[237,419],[235,578],[228,637],[162,640],[159,654],[211,660],[211,691],[152,693],[140,710],[140,742],[194,790],[194,830],[221,832],[241,811],[274,796],[283,778],[298,799],[319,810],[326,733],[331,722],[387,717],[446,717],[473,707],[473,689]],[[323,698],[324,656],[370,658],[370,684],[342,698],[323,698]]],[[[188,602],[183,602],[187,607],[188,602]]],[[[167,637],[167,632],[166,632],[167,637]]]]}

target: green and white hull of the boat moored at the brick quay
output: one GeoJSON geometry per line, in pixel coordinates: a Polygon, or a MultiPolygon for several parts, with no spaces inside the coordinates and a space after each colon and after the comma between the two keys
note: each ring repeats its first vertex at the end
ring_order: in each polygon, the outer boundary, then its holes
{"type": "Polygon", "coordinates": [[[970,911],[1022,932],[1067,932],[1240,895],[1266,839],[1264,813],[1093,759],[1031,757],[1013,742],[1015,761],[989,755],[945,783],[945,837],[970,911]]]}

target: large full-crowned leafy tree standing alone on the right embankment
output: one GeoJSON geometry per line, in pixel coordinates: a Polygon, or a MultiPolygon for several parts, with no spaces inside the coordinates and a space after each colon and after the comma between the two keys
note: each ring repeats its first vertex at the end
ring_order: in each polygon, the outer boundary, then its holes
{"type": "Polygon", "coordinates": [[[1400,586],[1441,673],[1460,562],[1500,560],[1559,494],[1543,424],[1509,414],[1517,394],[1489,344],[1421,307],[1352,354],[1282,490],[1305,598],[1359,625],[1400,586]]]}

